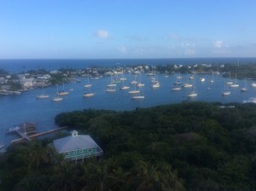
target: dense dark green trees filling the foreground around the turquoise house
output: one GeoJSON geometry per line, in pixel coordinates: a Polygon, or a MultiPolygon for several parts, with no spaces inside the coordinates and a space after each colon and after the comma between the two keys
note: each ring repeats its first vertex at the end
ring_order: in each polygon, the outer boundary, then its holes
{"type": "Polygon", "coordinates": [[[13,145],[1,158],[0,189],[256,190],[256,105],[219,105],[61,113],[55,122],[92,136],[102,158],[68,163],[50,138],[13,145]]]}

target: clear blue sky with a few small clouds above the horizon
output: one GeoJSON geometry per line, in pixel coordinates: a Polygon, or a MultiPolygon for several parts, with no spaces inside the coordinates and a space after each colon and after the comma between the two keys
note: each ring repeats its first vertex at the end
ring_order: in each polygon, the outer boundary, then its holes
{"type": "Polygon", "coordinates": [[[0,59],[256,57],[255,0],[0,0],[0,59]]]}

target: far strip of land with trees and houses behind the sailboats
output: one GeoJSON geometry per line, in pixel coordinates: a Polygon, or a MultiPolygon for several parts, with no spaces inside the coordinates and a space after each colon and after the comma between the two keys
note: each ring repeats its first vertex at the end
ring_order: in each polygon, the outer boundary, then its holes
{"type": "Polygon", "coordinates": [[[60,68],[28,70],[26,72],[9,73],[0,68],[0,95],[20,94],[25,90],[44,86],[79,82],[79,78],[102,78],[114,73],[218,73],[226,78],[256,79],[256,63],[250,64],[195,64],[195,65],[137,65],[128,67],[92,67],[92,68],[60,68]]]}

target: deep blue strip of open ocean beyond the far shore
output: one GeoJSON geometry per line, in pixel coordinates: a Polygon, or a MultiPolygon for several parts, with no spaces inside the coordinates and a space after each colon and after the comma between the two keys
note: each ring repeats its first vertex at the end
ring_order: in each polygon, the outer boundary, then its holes
{"type": "Polygon", "coordinates": [[[16,59],[0,60],[0,68],[9,72],[26,72],[44,68],[47,71],[60,68],[86,67],[127,67],[134,65],[191,65],[191,64],[230,64],[256,63],[256,58],[170,58],[170,59],[16,59]]]}

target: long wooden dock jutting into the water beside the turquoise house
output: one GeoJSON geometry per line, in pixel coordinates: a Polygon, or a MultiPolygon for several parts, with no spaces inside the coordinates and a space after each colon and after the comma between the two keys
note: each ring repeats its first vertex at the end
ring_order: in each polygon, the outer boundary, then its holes
{"type": "Polygon", "coordinates": [[[16,130],[16,132],[20,136],[20,138],[13,140],[12,143],[31,141],[32,138],[36,138],[38,136],[48,135],[48,134],[54,133],[54,132],[59,131],[59,130],[64,130],[64,129],[67,129],[67,126],[60,127],[60,128],[54,129],[54,130],[48,130],[48,131],[45,131],[45,132],[37,133],[37,134],[34,134],[32,136],[28,136],[27,134],[25,134],[23,132],[20,132],[19,130],[16,130]]]}

